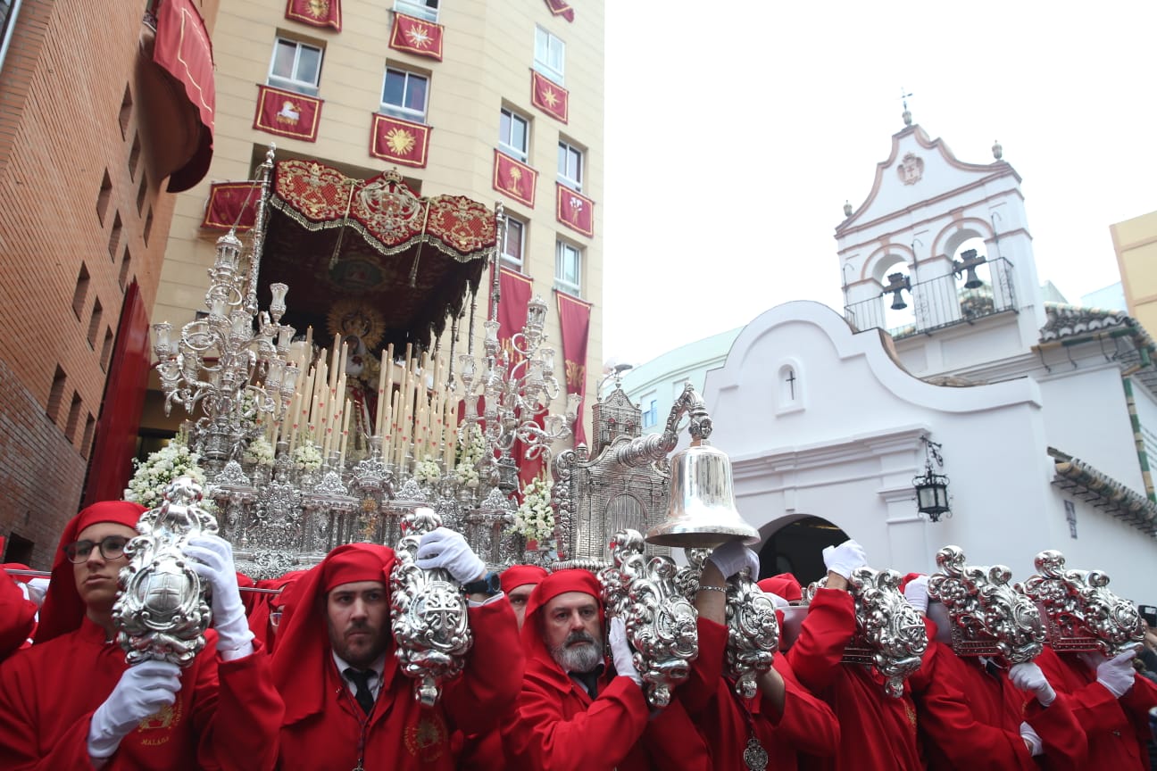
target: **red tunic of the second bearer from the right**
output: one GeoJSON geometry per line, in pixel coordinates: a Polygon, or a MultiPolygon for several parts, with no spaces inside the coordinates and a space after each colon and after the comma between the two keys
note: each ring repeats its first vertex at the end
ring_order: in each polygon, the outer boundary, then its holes
{"type": "Polygon", "coordinates": [[[929,771],[1040,768],[1020,737],[1025,721],[1045,746],[1045,768],[1085,768],[1084,732],[1063,695],[1045,709],[1036,697],[1018,691],[1005,674],[990,675],[980,659],[958,657],[936,640],[929,642],[920,672],[908,682],[929,771]]]}

